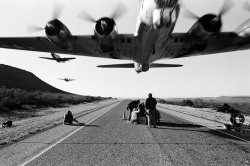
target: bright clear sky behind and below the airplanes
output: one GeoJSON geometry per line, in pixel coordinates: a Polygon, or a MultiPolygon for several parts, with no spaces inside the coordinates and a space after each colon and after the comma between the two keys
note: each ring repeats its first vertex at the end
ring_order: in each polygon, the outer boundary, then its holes
{"type": "MultiPolygon", "coordinates": [[[[121,0],[128,12],[116,20],[119,33],[134,34],[139,0],[121,0]]],[[[27,33],[28,25],[44,27],[52,19],[54,0],[1,0],[0,37],[45,36],[45,32],[27,33]]],[[[182,0],[174,32],[187,32],[196,20],[183,16],[188,8],[198,16],[218,13],[223,0],[182,0]]],[[[223,19],[222,31],[234,31],[250,17],[242,9],[245,1],[234,0],[234,7],[223,19]]],[[[92,35],[93,24],[79,19],[82,10],[94,18],[110,16],[118,0],[60,0],[64,10],[59,17],[73,35],[92,35]]],[[[166,59],[160,63],[182,64],[180,68],[150,69],[137,74],[134,69],[104,69],[97,65],[129,63],[127,60],[76,57],[66,63],[40,59],[50,53],[0,48],[0,64],[32,72],[41,80],[61,90],[91,96],[146,98],[148,93],[159,98],[250,96],[250,50],[213,55],[166,59]],[[65,82],[58,78],[72,78],[65,82]]]]}

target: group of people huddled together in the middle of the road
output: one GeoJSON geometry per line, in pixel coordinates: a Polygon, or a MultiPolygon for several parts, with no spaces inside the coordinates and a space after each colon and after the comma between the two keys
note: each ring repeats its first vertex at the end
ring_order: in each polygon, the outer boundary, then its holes
{"type": "Polygon", "coordinates": [[[159,120],[159,113],[156,110],[157,101],[153,98],[152,94],[148,94],[145,104],[140,102],[140,100],[131,101],[127,110],[129,111],[128,121],[132,123],[137,123],[138,116],[147,117],[147,122],[149,127],[156,128],[156,121],[159,120]]]}

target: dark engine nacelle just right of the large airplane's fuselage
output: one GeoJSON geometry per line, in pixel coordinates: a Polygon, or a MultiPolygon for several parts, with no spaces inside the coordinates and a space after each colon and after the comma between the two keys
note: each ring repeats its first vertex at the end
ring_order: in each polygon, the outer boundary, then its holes
{"type": "Polygon", "coordinates": [[[197,43],[206,43],[213,39],[222,27],[221,18],[214,14],[206,14],[190,28],[188,34],[197,43]]]}

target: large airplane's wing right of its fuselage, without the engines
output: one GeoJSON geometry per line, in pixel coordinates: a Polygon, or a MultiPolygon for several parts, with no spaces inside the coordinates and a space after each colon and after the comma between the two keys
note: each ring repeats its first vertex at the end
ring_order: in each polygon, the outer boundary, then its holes
{"type": "Polygon", "coordinates": [[[250,37],[240,37],[234,32],[221,32],[208,43],[198,44],[186,33],[173,33],[167,42],[164,58],[184,58],[250,49],[250,37]]]}

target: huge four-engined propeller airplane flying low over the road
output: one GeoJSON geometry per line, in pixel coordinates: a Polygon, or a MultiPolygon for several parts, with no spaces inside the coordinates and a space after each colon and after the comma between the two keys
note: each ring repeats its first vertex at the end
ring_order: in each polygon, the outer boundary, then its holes
{"type": "MultiPolygon", "coordinates": [[[[140,11],[134,34],[119,34],[115,20],[125,10],[120,5],[110,17],[93,19],[86,12],[80,17],[94,23],[94,34],[74,36],[58,19],[44,28],[46,36],[4,37],[0,47],[29,51],[73,54],[99,58],[132,60],[133,63],[99,65],[106,68],[134,68],[137,73],[149,68],[180,67],[178,64],[155,63],[161,59],[184,58],[206,54],[246,50],[250,48],[250,19],[234,32],[221,32],[222,17],[233,6],[225,0],[218,14],[201,17],[192,12],[186,16],[197,19],[185,33],[173,33],[181,3],[179,0],[140,0],[140,11]]],[[[249,5],[245,5],[249,10],[249,5]]],[[[188,10],[187,10],[188,11],[188,10]]]]}

